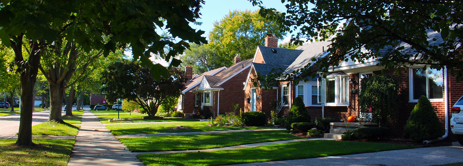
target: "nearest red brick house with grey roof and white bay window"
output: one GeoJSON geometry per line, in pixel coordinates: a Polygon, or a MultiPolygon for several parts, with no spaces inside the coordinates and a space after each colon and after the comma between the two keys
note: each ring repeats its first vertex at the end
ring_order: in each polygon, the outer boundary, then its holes
{"type": "MultiPolygon", "coordinates": [[[[437,32],[429,31],[428,36],[431,38],[428,40],[430,43],[442,42],[437,32]],[[432,38],[438,40],[432,41],[432,38]]],[[[271,36],[269,39],[272,39],[271,36]]],[[[363,63],[343,61],[338,67],[331,68],[332,72],[327,73],[327,78],[320,81],[318,78],[310,78],[309,81],[301,81],[298,85],[291,81],[289,86],[287,86],[288,82],[280,82],[280,85],[275,85],[272,90],[267,91],[252,85],[251,80],[256,78],[257,74],[269,74],[271,68],[281,68],[284,74],[287,74],[311,63],[312,58],[329,56],[330,53],[326,52],[325,48],[328,48],[330,43],[329,41],[309,43],[294,51],[275,48],[277,45],[267,44],[267,42],[266,47],[259,46],[244,86],[245,98],[250,98],[244,110],[262,111],[269,116],[269,112],[275,109],[275,105],[269,105],[269,103],[278,99],[286,104],[281,112],[284,114],[288,112],[293,99],[300,96],[312,118],[331,117],[346,121],[351,115],[361,117],[358,111],[359,82],[368,75],[381,74],[384,68],[376,66],[379,63],[378,59],[371,58],[363,63]],[[282,54],[286,55],[279,55],[283,51],[286,52],[282,54]]],[[[409,47],[405,43],[401,45],[409,47]]],[[[382,55],[385,53],[383,52],[382,55]]],[[[395,71],[386,70],[386,72],[394,77],[399,86],[400,110],[398,110],[395,121],[391,120],[388,126],[393,135],[400,136],[403,133],[403,126],[421,95],[430,98],[443,129],[446,127],[445,112],[450,111],[451,106],[463,95],[463,82],[457,83],[446,69],[441,71],[426,68],[425,65],[409,66],[400,75],[395,71]]],[[[450,130],[450,127],[447,126],[447,129],[450,130]]],[[[449,133],[451,135],[451,132],[449,133]]]]}

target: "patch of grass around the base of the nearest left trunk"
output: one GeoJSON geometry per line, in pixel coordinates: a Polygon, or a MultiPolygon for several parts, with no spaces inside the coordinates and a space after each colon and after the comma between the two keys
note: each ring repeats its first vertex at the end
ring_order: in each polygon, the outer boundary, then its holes
{"type": "Polygon", "coordinates": [[[38,145],[16,146],[16,139],[0,140],[1,166],[66,166],[75,139],[32,139],[38,145]],[[20,165],[19,165],[20,164],[20,165]]]}

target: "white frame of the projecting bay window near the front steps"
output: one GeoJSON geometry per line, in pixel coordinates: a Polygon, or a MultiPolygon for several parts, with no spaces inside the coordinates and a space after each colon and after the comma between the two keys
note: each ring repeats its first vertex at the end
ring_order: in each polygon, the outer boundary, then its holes
{"type": "MultiPolygon", "coordinates": [[[[322,101],[319,101],[319,103],[324,103],[325,106],[349,106],[349,76],[333,76],[333,77],[328,77],[326,79],[321,79],[318,80],[318,87],[322,89],[321,91],[321,98],[322,101]],[[328,78],[334,78],[334,103],[327,103],[326,102],[326,79],[328,78]],[[344,99],[345,102],[341,102],[341,98],[343,97],[341,93],[341,82],[344,80],[344,99]]],[[[320,92],[319,90],[317,91],[318,93],[320,92]]]]}

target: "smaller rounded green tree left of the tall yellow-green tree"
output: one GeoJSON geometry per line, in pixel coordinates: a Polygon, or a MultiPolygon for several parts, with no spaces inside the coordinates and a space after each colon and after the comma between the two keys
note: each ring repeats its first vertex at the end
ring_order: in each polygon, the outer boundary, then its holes
{"type": "Polygon", "coordinates": [[[190,49],[180,56],[182,66],[192,66],[193,72],[201,74],[209,70],[223,67],[220,55],[210,44],[190,43],[190,49]]]}

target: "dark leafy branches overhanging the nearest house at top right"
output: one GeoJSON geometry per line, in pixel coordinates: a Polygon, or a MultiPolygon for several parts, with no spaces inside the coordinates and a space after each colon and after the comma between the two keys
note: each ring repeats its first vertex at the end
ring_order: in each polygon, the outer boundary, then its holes
{"type": "Polygon", "coordinates": [[[330,66],[338,66],[342,61],[372,57],[382,57],[378,60],[388,69],[414,64],[437,69],[446,66],[457,80],[463,76],[463,55],[455,51],[463,40],[461,0],[282,0],[288,3],[286,12],[264,8],[262,0],[250,1],[261,6],[262,16],[280,23],[281,31],[297,31],[291,39],[295,44],[302,42],[300,38],[332,38],[327,49],[332,54],[313,64],[318,68],[309,66],[295,71],[286,77],[288,80],[314,77],[316,72],[328,72],[330,66]],[[442,43],[432,43],[441,37],[442,43]],[[402,42],[411,48],[401,46],[402,42]]]}

